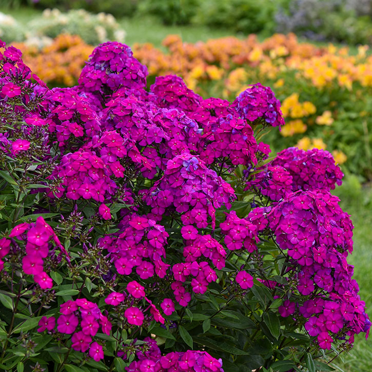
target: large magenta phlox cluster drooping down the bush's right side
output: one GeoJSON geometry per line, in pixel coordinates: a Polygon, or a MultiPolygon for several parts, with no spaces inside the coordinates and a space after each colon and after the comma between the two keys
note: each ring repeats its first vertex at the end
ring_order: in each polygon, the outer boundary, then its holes
{"type": "Polygon", "coordinates": [[[280,314],[303,317],[305,329],[323,349],[340,337],[349,336],[353,343],[355,334],[370,328],[358,284],[351,278],[353,266],[346,261],[353,250],[353,224],[338,201],[324,190],[298,191],[248,216],[259,230],[268,227],[290,258],[287,277],[295,283],[293,300],[284,302],[280,314]],[[296,292],[306,300],[296,299],[296,292]]]}

